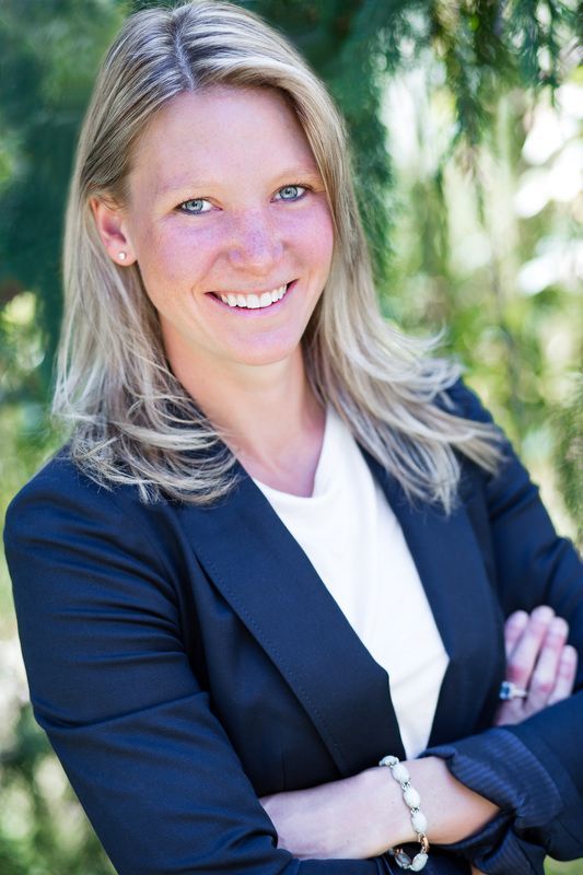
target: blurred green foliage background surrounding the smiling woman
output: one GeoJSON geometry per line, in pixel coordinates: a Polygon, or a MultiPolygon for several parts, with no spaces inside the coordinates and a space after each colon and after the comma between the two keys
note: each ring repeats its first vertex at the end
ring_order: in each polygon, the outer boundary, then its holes
{"type": "MultiPolygon", "coordinates": [[[[129,0],[0,0],[0,516],[62,442],[48,406],[63,205],[129,0]]],[[[434,335],[581,546],[583,71],[575,2],[247,0],[343,110],[388,319],[434,335]],[[579,527],[578,527],[579,521],[579,527]]],[[[0,872],[113,873],[32,716],[0,560],[0,872]]],[[[583,875],[583,862],[548,873],[583,875]]]]}

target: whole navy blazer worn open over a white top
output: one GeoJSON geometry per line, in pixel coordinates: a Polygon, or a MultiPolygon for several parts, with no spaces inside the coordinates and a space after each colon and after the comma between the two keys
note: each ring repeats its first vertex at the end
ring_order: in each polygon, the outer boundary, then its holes
{"type": "MultiPolygon", "coordinates": [[[[488,419],[462,384],[451,398],[488,419]]],[[[510,612],[550,604],[583,651],[574,549],[510,447],[495,477],[462,460],[448,516],[412,506],[362,452],[450,656],[429,751],[502,808],[471,839],[433,847],[425,872],[468,873],[471,860],[488,873],[539,873],[546,853],[583,854],[583,692],[489,728],[510,612]]],[[[5,544],[36,719],[120,875],[398,871],[387,855],[299,861],[277,848],[258,796],[352,775],[404,748],[386,672],[237,474],[212,506],[145,505],[135,488],[98,488],[61,453],[19,493],[5,544]]]]}

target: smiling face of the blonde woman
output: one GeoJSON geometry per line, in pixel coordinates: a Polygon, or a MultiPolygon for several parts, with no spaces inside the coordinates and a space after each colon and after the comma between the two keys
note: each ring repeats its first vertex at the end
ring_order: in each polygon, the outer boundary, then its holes
{"type": "Polygon", "coordinates": [[[112,255],[137,260],[178,376],[299,354],[328,277],[333,221],[277,91],[215,86],[171,101],[136,148],[119,234],[112,255]]]}

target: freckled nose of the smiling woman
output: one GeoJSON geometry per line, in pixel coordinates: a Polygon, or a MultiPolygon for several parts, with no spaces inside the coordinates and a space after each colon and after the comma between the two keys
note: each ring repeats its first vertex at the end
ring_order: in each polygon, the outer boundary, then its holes
{"type": "Polygon", "coordinates": [[[281,236],[269,217],[254,211],[233,221],[229,245],[233,267],[268,275],[282,253],[281,236]]]}

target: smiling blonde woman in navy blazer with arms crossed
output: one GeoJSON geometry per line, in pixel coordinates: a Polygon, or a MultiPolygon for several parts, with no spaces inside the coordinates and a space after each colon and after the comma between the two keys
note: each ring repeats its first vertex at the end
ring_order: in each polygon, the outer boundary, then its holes
{"type": "Polygon", "coordinates": [[[214,2],[126,23],[65,278],[71,440],[7,555],[35,715],[120,875],[581,853],[575,553],[381,318],[342,124],[279,35],[214,2]]]}

